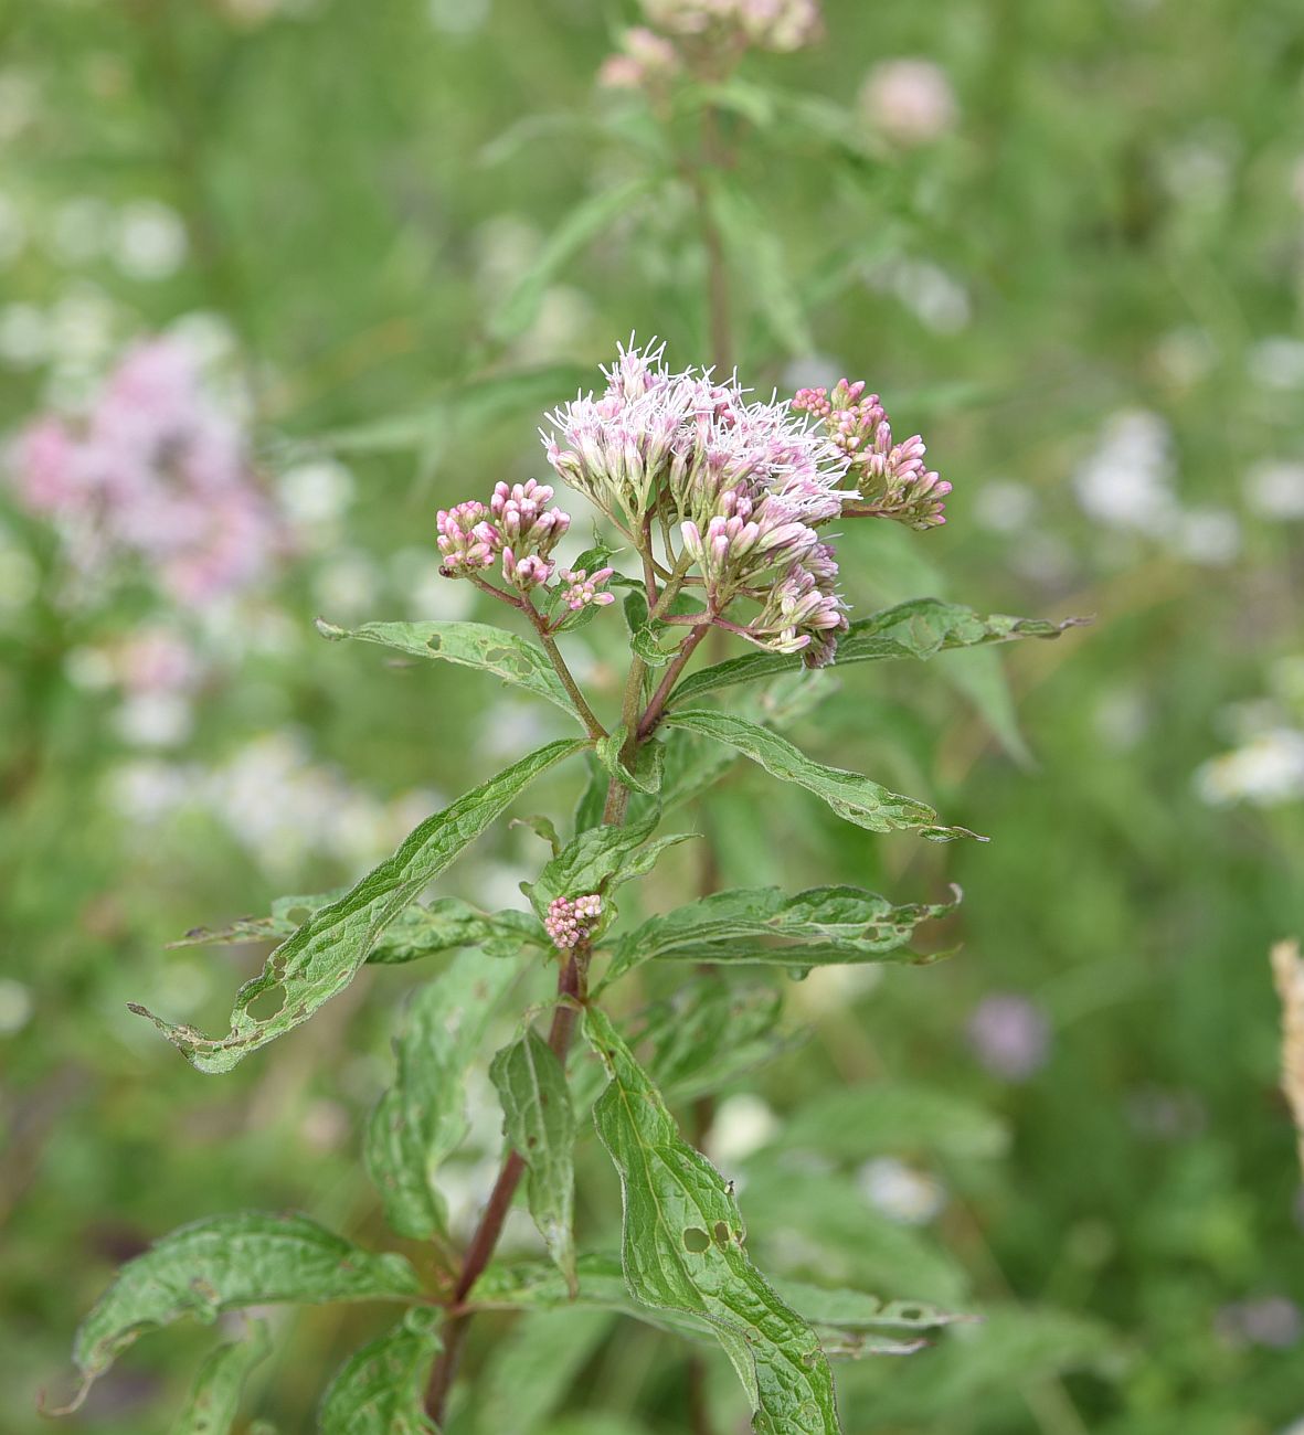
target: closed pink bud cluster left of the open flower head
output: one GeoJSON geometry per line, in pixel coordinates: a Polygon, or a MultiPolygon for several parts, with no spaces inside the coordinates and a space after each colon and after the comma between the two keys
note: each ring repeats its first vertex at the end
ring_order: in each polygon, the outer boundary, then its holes
{"type": "Polygon", "coordinates": [[[461,578],[501,557],[504,580],[521,593],[547,584],[556,571],[549,555],[570,527],[569,514],[547,507],[551,498],[553,489],[531,478],[511,486],[495,484],[488,508],[474,501],[441,508],[435,518],[439,571],[461,578]]]}

